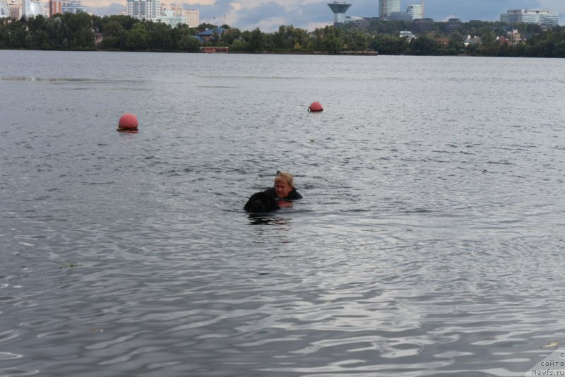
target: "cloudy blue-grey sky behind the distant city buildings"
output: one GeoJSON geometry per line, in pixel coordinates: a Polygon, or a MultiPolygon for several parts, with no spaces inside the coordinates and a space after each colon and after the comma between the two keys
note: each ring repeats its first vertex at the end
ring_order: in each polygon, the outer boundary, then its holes
{"type": "MultiPolygon", "coordinates": [[[[169,0],[162,0],[167,3],[169,0]]],[[[333,23],[333,13],[328,7],[331,1],[320,0],[172,0],[184,4],[184,8],[200,11],[201,23],[227,23],[241,30],[261,29],[263,32],[278,30],[280,25],[294,25],[313,31],[333,23]]],[[[340,0],[343,1],[343,0],[340,0]]],[[[352,4],[346,16],[379,16],[379,0],[350,0],[352,4]]],[[[125,8],[125,0],[82,0],[93,13],[100,16],[119,13],[125,8]]],[[[420,0],[401,0],[401,11],[408,4],[420,0]]],[[[565,0],[424,0],[424,16],[436,21],[448,18],[468,20],[499,20],[501,13],[509,9],[542,8],[559,14],[559,24],[565,25],[565,0]]]]}

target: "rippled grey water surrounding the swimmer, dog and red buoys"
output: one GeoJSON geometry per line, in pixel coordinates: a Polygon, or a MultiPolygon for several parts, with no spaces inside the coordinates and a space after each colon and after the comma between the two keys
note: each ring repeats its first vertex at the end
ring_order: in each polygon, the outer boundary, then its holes
{"type": "Polygon", "coordinates": [[[565,345],[562,60],[0,51],[0,92],[0,376],[524,376],[565,345]],[[246,215],[276,170],[304,199],[246,215]]]}

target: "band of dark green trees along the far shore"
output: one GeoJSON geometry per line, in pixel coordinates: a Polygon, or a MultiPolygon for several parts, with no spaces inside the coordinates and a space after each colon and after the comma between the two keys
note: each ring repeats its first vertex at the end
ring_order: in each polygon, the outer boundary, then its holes
{"type": "Polygon", "coordinates": [[[308,32],[282,25],[275,32],[262,32],[206,23],[170,27],[130,16],[87,13],[0,19],[0,49],[200,52],[205,46],[247,54],[565,57],[565,27],[374,20],[362,27],[352,23],[308,32]],[[400,37],[405,30],[412,35],[400,37]]]}

